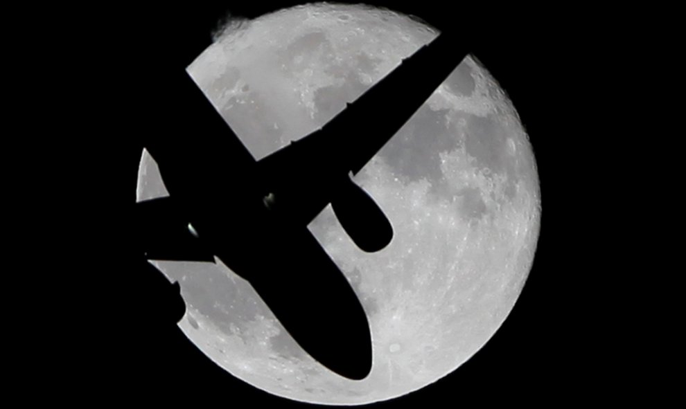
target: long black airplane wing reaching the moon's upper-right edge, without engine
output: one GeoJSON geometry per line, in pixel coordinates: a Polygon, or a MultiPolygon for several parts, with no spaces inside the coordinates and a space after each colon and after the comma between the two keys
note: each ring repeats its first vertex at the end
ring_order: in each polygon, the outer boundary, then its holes
{"type": "Polygon", "coordinates": [[[259,167],[264,173],[274,174],[275,170],[283,169],[283,164],[291,163],[292,157],[307,153],[310,156],[306,158],[305,166],[357,174],[466,55],[465,42],[457,33],[441,33],[430,44],[405,58],[360,98],[348,103],[346,109],[324,127],[266,156],[259,167]],[[332,148],[335,152],[331,152],[332,148]],[[303,153],[295,154],[295,150],[303,153]]]}

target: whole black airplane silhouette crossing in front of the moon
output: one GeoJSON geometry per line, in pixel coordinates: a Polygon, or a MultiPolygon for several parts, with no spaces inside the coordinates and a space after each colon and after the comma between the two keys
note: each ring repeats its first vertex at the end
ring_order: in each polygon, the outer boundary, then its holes
{"type": "Polygon", "coordinates": [[[166,84],[174,91],[165,94],[174,135],[155,134],[145,143],[169,192],[137,203],[146,258],[217,257],[252,284],[310,356],[337,374],[364,379],[372,363],[367,315],[307,226],[331,204],[362,251],[392,241],[392,224],[351,176],[465,56],[456,32],[441,33],[323,127],[260,161],[179,66],[166,84]]]}

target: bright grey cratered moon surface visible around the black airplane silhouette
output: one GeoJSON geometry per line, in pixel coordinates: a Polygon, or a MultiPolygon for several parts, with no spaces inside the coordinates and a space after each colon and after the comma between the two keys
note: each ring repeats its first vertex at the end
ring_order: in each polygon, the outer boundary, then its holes
{"type": "MultiPolygon", "coordinates": [[[[436,36],[387,10],[300,6],[229,26],[187,71],[260,159],[324,125],[436,36]]],[[[309,228],[367,311],[373,367],[361,381],[314,361],[220,262],[151,261],[181,284],[186,336],[256,388],[344,405],[407,394],[473,356],[522,290],[538,239],[536,163],[511,102],[475,58],[354,179],[392,222],[391,244],[360,251],[330,206],[309,228]]],[[[143,152],[138,199],[166,194],[143,152]]]]}

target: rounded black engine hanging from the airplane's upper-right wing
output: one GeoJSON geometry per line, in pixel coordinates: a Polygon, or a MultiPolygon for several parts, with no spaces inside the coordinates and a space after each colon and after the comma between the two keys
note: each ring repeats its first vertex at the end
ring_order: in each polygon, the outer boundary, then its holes
{"type": "Polygon", "coordinates": [[[362,251],[379,251],[391,242],[391,222],[374,199],[351,179],[346,178],[331,206],[341,226],[362,251]]]}

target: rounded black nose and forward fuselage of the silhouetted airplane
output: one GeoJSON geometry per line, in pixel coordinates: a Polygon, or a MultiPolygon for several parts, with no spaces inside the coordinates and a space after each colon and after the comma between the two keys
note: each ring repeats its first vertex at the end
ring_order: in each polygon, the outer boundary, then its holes
{"type": "Polygon", "coordinates": [[[351,283],[309,232],[276,235],[283,246],[252,262],[260,273],[249,282],[305,352],[341,376],[363,379],[371,372],[371,331],[351,283]]]}

